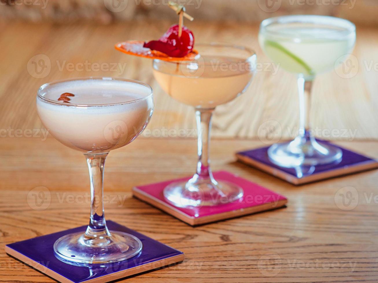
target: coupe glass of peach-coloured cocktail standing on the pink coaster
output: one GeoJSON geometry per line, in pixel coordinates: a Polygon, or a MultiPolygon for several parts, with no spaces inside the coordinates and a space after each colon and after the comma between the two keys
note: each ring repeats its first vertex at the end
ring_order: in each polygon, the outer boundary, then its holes
{"type": "Polygon", "coordinates": [[[214,206],[236,201],[239,186],[215,180],[210,169],[211,117],[217,105],[227,103],[248,88],[256,67],[256,54],[243,46],[196,44],[193,61],[153,61],[153,74],[161,88],[179,102],[195,109],[198,130],[198,163],[189,181],[172,183],[164,197],[179,207],[214,206]]]}

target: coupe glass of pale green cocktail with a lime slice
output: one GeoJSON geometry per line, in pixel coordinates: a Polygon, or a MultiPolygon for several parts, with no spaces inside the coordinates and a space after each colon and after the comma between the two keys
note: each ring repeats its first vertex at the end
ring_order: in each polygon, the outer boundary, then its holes
{"type": "Polygon", "coordinates": [[[298,77],[299,134],[293,141],[268,149],[269,158],[277,165],[311,166],[341,160],[339,148],[314,138],[309,121],[310,94],[315,75],[342,63],[355,41],[355,25],[341,18],[292,15],[261,23],[259,42],[265,54],[298,77]]]}

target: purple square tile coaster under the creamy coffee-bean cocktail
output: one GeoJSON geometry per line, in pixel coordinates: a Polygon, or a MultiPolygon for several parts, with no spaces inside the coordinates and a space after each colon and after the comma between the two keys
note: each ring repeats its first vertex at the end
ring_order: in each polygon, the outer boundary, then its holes
{"type": "Polygon", "coordinates": [[[143,243],[142,251],[135,257],[107,267],[82,267],[69,265],[58,260],[53,251],[54,242],[63,235],[85,232],[81,226],[50,235],[40,236],[5,246],[7,254],[23,261],[49,277],[63,283],[91,282],[103,283],[130,276],[144,271],[171,265],[184,260],[183,252],[170,248],[134,230],[107,220],[110,230],[122,231],[138,237],[143,243]]]}

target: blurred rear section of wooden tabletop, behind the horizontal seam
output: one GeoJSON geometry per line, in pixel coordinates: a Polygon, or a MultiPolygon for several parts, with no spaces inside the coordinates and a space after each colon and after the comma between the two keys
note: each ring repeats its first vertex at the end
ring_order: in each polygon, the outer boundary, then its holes
{"type": "MultiPolygon", "coordinates": [[[[191,107],[162,91],[152,75],[149,59],[125,55],[116,42],[159,37],[170,20],[135,20],[112,25],[91,23],[2,23],[0,48],[0,128],[39,129],[35,97],[40,85],[72,77],[110,76],[141,80],[154,89],[155,112],[145,137],[195,138],[191,107]],[[170,132],[169,132],[170,131],[170,132]]],[[[260,138],[264,143],[293,137],[298,123],[296,78],[276,70],[257,42],[258,24],[236,22],[187,23],[197,42],[233,42],[256,50],[259,69],[248,91],[219,106],[213,136],[260,138]]],[[[311,120],[315,132],[330,140],[377,139],[378,132],[378,28],[358,26],[352,68],[319,75],[314,83],[311,120]],[[333,131],[333,132],[332,132],[333,131]]],[[[9,135],[9,134],[8,134],[9,135]]]]}

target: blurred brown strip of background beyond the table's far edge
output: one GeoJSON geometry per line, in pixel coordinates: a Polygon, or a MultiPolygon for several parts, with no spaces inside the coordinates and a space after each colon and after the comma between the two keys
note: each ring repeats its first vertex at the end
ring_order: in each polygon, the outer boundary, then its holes
{"type": "MultiPolygon", "coordinates": [[[[169,0],[0,0],[0,19],[110,23],[145,18],[174,19],[169,0]]],[[[175,0],[197,20],[259,23],[286,14],[344,17],[376,25],[376,0],[175,0]]]]}

